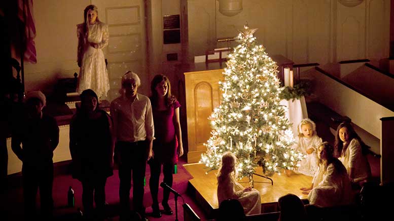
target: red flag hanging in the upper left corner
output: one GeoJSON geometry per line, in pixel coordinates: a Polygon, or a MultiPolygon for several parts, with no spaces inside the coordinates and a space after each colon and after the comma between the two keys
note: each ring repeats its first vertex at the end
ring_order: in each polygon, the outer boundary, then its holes
{"type": "MultiPolygon", "coordinates": [[[[18,0],[18,18],[24,24],[24,62],[37,63],[35,52],[35,25],[33,18],[33,0],[18,0]]],[[[23,30],[21,30],[23,32],[23,30]]]]}

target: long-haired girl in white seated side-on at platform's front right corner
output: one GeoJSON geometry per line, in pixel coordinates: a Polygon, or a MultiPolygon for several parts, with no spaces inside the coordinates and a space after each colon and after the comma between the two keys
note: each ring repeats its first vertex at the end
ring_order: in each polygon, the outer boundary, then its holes
{"type": "Polygon", "coordinates": [[[318,149],[323,180],[314,187],[308,200],[311,205],[331,207],[351,203],[351,184],[346,168],[334,157],[334,148],[327,142],[318,149]]]}

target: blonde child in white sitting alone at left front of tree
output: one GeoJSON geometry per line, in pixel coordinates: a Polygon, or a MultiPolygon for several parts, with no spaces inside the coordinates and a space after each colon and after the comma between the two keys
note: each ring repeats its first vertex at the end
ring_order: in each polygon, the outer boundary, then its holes
{"type": "Polygon", "coordinates": [[[243,206],[246,215],[261,213],[260,193],[252,187],[242,187],[236,182],[236,157],[231,152],[222,156],[222,165],[217,175],[218,178],[218,202],[226,199],[237,199],[243,206]]]}

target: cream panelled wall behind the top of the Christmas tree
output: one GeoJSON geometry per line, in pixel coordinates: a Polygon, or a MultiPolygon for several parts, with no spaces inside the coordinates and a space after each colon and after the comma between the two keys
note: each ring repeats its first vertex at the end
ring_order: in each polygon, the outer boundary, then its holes
{"type": "Polygon", "coordinates": [[[192,57],[215,48],[217,38],[236,36],[245,22],[259,29],[255,36],[270,55],[296,63],[388,57],[389,0],[353,8],[337,0],[244,0],[232,17],[219,12],[218,1],[188,0],[188,6],[192,57]]]}

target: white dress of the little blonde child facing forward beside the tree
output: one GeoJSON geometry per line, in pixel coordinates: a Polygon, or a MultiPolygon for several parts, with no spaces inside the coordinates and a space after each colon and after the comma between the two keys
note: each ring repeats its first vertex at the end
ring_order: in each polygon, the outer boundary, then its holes
{"type": "Polygon", "coordinates": [[[304,153],[305,158],[299,162],[300,166],[295,170],[295,172],[302,173],[307,176],[314,176],[319,169],[317,148],[319,148],[321,143],[323,143],[323,141],[317,135],[314,135],[311,138],[296,137],[296,145],[294,146],[294,149],[304,153]],[[309,148],[313,148],[313,152],[311,154],[306,153],[306,150],[309,148]]]}

